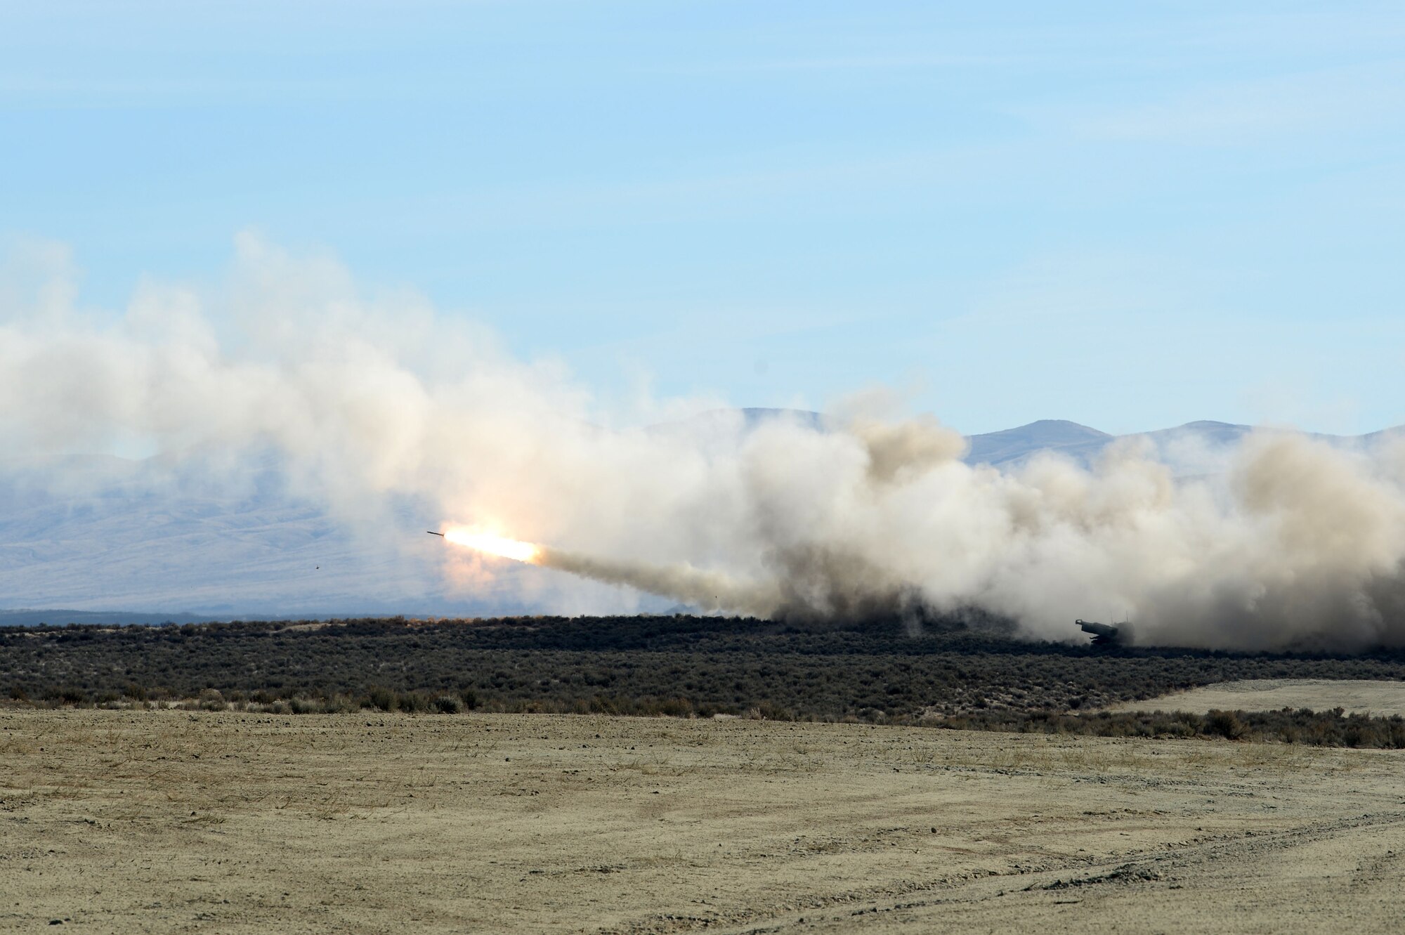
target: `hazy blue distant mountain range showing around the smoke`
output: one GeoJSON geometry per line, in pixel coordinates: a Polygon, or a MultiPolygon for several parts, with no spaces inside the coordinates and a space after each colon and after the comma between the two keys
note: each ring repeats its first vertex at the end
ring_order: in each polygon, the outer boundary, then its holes
{"type": "MultiPolygon", "coordinates": [[[[740,416],[752,427],[774,418],[825,427],[823,416],[804,410],[745,409],[740,416]]],[[[736,417],[735,410],[704,413],[651,431],[725,437],[736,417]]],[[[1249,431],[1201,421],[1132,438],[1187,476],[1222,469],[1224,452],[1249,431]]],[[[1321,438],[1371,445],[1383,435],[1321,438]]],[[[1086,466],[1118,438],[1041,420],[971,435],[965,460],[1010,469],[1054,451],[1086,466]]],[[[350,529],[289,491],[275,458],[237,470],[108,455],[0,462],[0,608],[72,608],[0,611],[0,625],[527,609],[510,576],[496,591],[447,590],[443,553],[423,533],[426,518],[427,507],[406,501],[375,529],[350,529]]]]}

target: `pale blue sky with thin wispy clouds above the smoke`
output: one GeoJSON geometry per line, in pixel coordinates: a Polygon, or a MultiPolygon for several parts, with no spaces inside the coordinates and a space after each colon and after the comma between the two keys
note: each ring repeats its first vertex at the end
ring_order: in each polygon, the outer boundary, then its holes
{"type": "Polygon", "coordinates": [[[604,400],[1405,423],[1394,3],[6,3],[0,143],[93,303],[253,229],[604,400]]]}

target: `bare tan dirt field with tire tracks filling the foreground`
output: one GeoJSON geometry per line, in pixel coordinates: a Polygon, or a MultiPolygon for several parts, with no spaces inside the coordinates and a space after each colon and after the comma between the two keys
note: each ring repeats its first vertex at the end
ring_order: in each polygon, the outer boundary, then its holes
{"type": "Polygon", "coordinates": [[[1402,752],[8,709],[0,929],[1398,931],[1402,752]]]}

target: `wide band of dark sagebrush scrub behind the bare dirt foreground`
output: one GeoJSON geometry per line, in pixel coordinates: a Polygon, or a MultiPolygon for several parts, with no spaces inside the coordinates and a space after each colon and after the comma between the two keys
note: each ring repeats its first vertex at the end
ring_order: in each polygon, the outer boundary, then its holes
{"type": "MultiPolygon", "coordinates": [[[[899,621],[680,615],[0,628],[0,698],[423,713],[452,713],[457,701],[461,710],[937,717],[1003,730],[1033,713],[1100,724],[1079,712],[1239,678],[1405,678],[1398,650],[1093,649],[1021,642],[978,623],[929,621],[915,633],[899,621]]],[[[1225,734],[1205,733],[1217,731],[1225,734]]]]}

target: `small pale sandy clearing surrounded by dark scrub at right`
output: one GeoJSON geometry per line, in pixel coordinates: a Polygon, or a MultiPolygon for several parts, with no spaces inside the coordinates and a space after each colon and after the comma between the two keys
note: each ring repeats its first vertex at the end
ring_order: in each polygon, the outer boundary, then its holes
{"type": "Polygon", "coordinates": [[[1111,705],[1107,710],[1279,710],[1345,708],[1360,715],[1405,716],[1405,682],[1332,678],[1246,678],[1111,705]]]}

